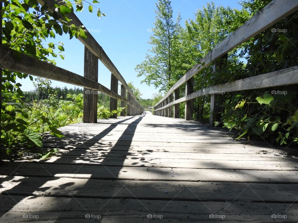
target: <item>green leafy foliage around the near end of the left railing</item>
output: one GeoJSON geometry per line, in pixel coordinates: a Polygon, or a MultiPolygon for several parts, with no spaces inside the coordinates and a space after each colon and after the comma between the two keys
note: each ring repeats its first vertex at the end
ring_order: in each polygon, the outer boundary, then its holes
{"type": "MultiPolygon", "coordinates": [[[[76,27],[68,25],[67,15],[74,11],[83,10],[83,2],[75,0],[57,2],[54,7],[47,4],[40,5],[36,0],[11,0],[2,1],[4,4],[2,14],[2,45],[16,50],[16,60],[20,57],[18,52],[30,55],[48,63],[55,64],[54,60],[48,56],[57,57],[64,51],[63,43],[57,44],[47,42],[49,38],[55,38],[56,34],[68,33],[70,39],[73,37],[86,38],[86,30],[83,26],[76,27]],[[56,33],[56,34],[55,34],[56,33]],[[58,52],[56,52],[58,51],[58,52]]],[[[93,1],[93,3],[98,3],[93,1]]],[[[93,5],[93,4],[92,4],[93,5]]],[[[94,7],[94,5],[93,5],[94,7]]],[[[97,9],[97,15],[104,15],[97,9]]],[[[1,154],[11,154],[12,151],[24,146],[41,147],[42,135],[45,131],[62,137],[57,127],[60,127],[61,120],[69,123],[66,114],[59,114],[62,108],[58,107],[56,92],[50,87],[48,80],[37,79],[35,85],[41,89],[42,101],[35,101],[32,98],[32,106],[25,104],[25,95],[21,90],[21,84],[16,82],[16,77],[28,78],[33,81],[33,77],[20,72],[2,70],[2,104],[1,104],[1,146],[6,151],[1,154]],[[55,116],[56,115],[56,116],[55,116]],[[66,118],[66,121],[65,121],[66,118]]],[[[38,97],[38,99],[40,99],[38,97]]],[[[28,102],[28,101],[27,101],[28,102]]],[[[73,101],[73,103],[78,103],[73,101]]],[[[70,104],[68,105],[70,106],[70,104]]]]}

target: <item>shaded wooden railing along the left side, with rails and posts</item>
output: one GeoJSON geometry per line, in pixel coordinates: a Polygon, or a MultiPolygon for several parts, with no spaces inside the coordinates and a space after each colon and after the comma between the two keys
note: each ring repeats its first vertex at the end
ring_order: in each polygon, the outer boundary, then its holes
{"type": "MultiPolygon", "coordinates": [[[[38,0],[38,2],[41,5],[47,4],[48,6],[58,4],[54,0],[38,0]]],[[[74,24],[76,27],[83,25],[74,13],[68,14],[67,17],[71,19],[69,25],[74,24]]],[[[0,68],[84,87],[84,123],[97,122],[98,91],[111,97],[110,110],[117,110],[117,100],[121,100],[121,107],[126,107],[127,105],[126,109],[121,112],[121,116],[142,114],[142,106],[138,103],[137,98],[134,96],[120,72],[91,33],[86,32],[86,35],[87,39],[78,37],[85,46],[84,77],[23,53],[19,53],[20,58],[15,57],[14,55],[17,53],[15,50],[1,45],[0,68]],[[111,71],[111,89],[98,83],[98,59],[111,71]],[[118,81],[122,84],[121,95],[118,94],[118,81]]],[[[117,114],[114,114],[112,118],[117,118],[117,114]]]]}

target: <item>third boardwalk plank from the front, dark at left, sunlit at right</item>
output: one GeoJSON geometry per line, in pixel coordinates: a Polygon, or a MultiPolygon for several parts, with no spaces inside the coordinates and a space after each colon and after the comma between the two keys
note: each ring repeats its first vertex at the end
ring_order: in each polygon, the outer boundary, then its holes
{"type": "Polygon", "coordinates": [[[24,177],[69,177],[106,180],[150,181],[201,181],[201,182],[247,182],[251,183],[298,183],[297,171],[279,170],[233,170],[233,169],[187,169],[187,168],[140,168],[73,165],[54,163],[5,163],[1,175],[24,177]],[[16,170],[16,171],[14,171],[16,170]],[[14,172],[13,172],[14,171],[14,172]]]}

